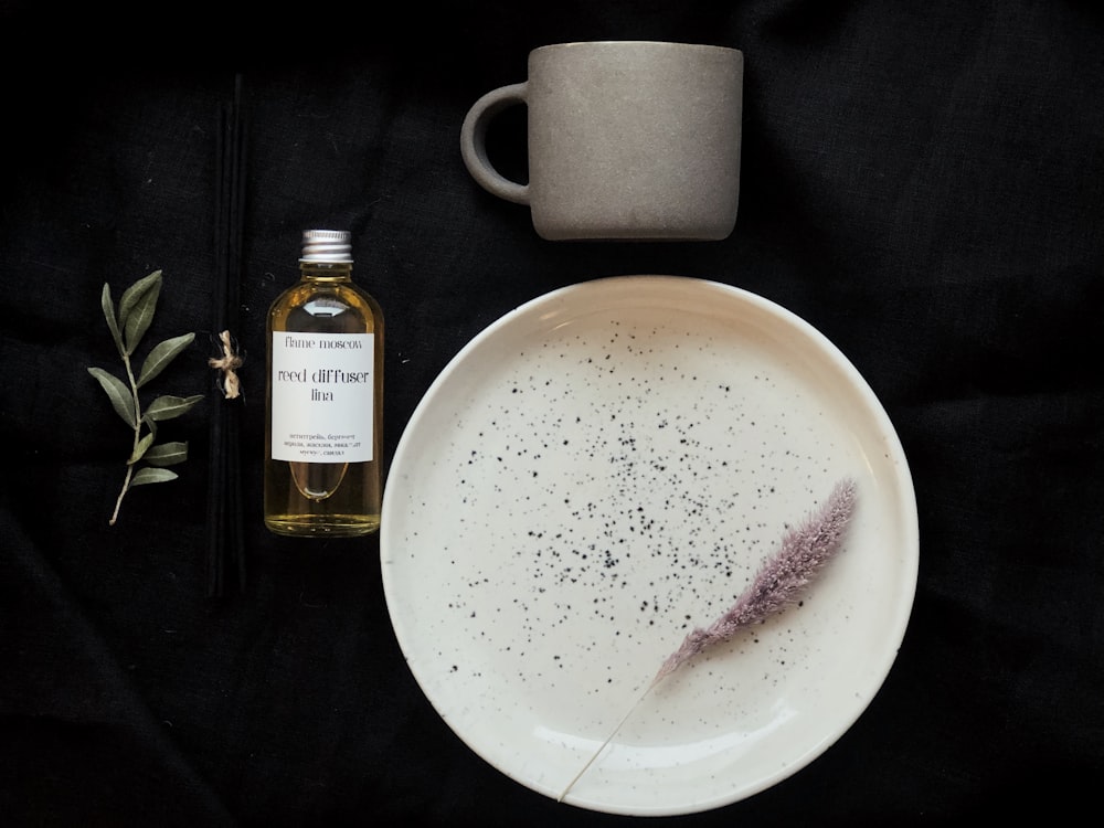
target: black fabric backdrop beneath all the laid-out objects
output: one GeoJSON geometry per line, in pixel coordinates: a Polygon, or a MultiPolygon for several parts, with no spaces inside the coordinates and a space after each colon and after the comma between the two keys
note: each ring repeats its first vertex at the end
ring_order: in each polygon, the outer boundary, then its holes
{"type": "MultiPolygon", "coordinates": [[[[354,234],[388,318],[386,445],[485,326],[553,288],[665,273],[757,293],[867,378],[912,467],[911,624],[820,758],[659,825],[943,824],[1095,803],[1104,778],[1104,18],[1090,3],[232,4],[0,18],[0,814],[19,826],[612,826],[486,765],[390,626],[379,541],[261,522],[264,314],[299,235],[354,234]],[[136,24],[136,28],[129,28],[136,24]],[[463,167],[460,123],[530,49],[744,51],[740,217],[718,243],[550,243],[463,167]],[[215,112],[251,130],[240,337],[250,582],[204,597],[215,112]],[[126,428],[86,372],[99,310],[166,275],[151,337],[181,479],[107,526],[126,428]],[[308,548],[309,546],[309,548],[308,548]]],[[[492,147],[523,174],[506,117],[492,147]]]]}

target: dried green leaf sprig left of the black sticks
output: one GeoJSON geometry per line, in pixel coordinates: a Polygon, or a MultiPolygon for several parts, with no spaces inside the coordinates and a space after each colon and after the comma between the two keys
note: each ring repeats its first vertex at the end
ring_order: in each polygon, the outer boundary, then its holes
{"type": "Polygon", "coordinates": [[[108,521],[112,526],[118,520],[123,498],[131,487],[177,479],[177,473],[166,467],[188,459],[188,444],[156,443],[157,425],[166,420],[179,417],[203,399],[202,394],[163,395],[156,397],[142,411],[138,390],[160,374],[195,339],[194,333],[185,333],[153,346],[142,361],[138,376],[135,378],[131,358],[146,331],[149,330],[150,322],[153,321],[153,311],[157,309],[160,295],[160,270],[155,270],[128,287],[119,299],[118,311],[112,300],[112,288],[107,283],[104,284],[100,295],[107,328],[112,331],[119,357],[123,358],[127,382],[102,368],[89,368],[88,373],[95,376],[107,392],[115,412],[134,429],[134,447],[130,457],[127,458],[127,475],[119,497],[115,501],[115,511],[108,521]]]}

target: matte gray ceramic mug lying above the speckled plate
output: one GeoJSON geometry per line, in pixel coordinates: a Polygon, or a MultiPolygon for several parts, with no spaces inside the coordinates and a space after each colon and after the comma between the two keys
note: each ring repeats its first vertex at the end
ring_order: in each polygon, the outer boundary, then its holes
{"type": "Polygon", "coordinates": [[[740,200],[743,53],[651,41],[559,43],[528,79],[480,97],[460,153],[488,192],[532,211],[549,240],[726,237],[740,200]],[[490,119],[528,108],[529,183],[487,156],[490,119]]]}

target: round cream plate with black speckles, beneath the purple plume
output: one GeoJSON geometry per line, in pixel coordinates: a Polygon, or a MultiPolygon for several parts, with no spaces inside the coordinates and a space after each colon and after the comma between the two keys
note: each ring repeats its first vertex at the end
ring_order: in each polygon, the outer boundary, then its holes
{"type": "Polygon", "coordinates": [[[400,440],[383,584],[426,697],[479,756],[564,802],[670,815],[796,773],[862,713],[916,583],[900,440],[808,323],[711,282],[567,287],[484,330],[400,440]],[[843,477],[838,558],[806,601],[716,646],[634,709],[843,477]]]}

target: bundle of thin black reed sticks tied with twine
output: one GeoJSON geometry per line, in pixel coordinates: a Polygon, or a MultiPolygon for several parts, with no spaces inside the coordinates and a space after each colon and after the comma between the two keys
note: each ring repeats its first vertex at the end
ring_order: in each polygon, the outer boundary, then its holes
{"type": "Polygon", "coordinates": [[[211,364],[220,368],[223,399],[211,415],[208,486],[206,592],[221,597],[236,582],[245,588],[245,531],[241,499],[241,406],[235,332],[241,302],[245,215],[246,128],[242,113],[242,76],[234,78],[232,103],[222,104],[215,130],[214,285],[212,317],[221,350],[211,364]]]}

